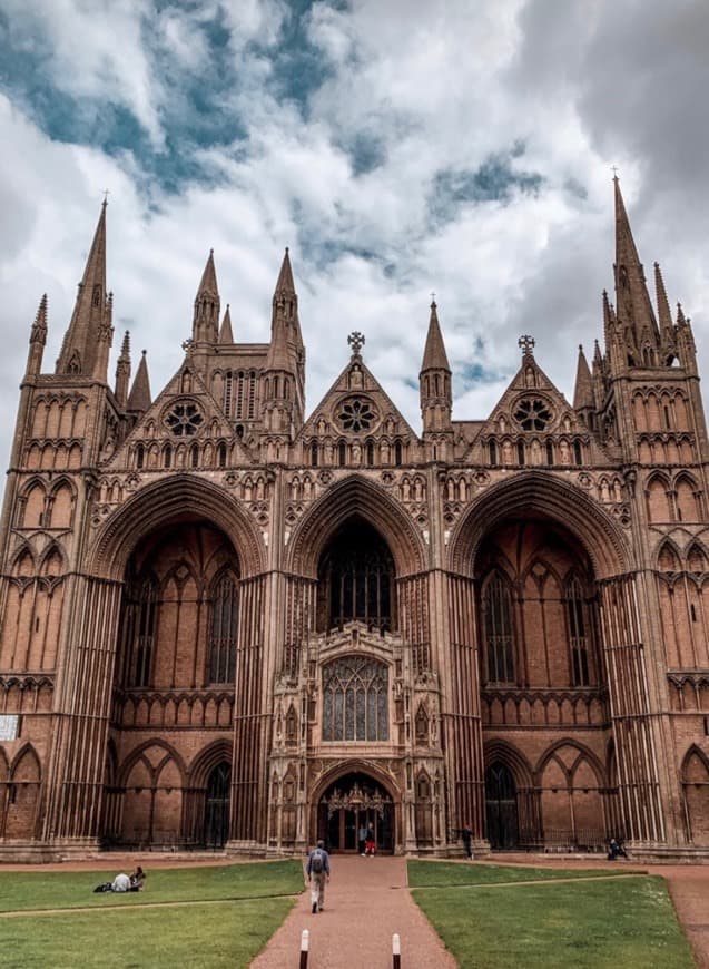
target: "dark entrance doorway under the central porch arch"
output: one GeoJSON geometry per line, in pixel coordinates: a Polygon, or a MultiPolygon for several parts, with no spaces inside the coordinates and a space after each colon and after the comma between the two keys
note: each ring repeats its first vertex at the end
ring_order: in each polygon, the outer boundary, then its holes
{"type": "Polygon", "coordinates": [[[363,832],[374,829],[376,850],[394,852],[394,803],[388,792],[366,774],[339,777],[317,805],[317,836],[334,852],[363,851],[363,832]]]}

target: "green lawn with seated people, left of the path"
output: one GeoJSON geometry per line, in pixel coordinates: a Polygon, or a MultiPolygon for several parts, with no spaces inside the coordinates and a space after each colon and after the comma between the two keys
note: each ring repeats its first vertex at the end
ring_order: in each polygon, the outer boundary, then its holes
{"type": "Polygon", "coordinates": [[[108,872],[0,873],[2,911],[60,910],[0,917],[0,967],[247,967],[303,890],[303,867],[156,870],[146,891],[125,895],[93,894],[101,881],[108,872]]]}

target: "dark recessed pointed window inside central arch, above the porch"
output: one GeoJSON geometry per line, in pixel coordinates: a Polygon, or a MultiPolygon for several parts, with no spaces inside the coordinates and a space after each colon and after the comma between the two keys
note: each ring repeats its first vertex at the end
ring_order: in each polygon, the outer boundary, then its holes
{"type": "Polygon", "coordinates": [[[325,552],[318,571],[318,629],[353,619],[381,632],[392,628],[394,562],[373,528],[351,522],[325,552]]]}

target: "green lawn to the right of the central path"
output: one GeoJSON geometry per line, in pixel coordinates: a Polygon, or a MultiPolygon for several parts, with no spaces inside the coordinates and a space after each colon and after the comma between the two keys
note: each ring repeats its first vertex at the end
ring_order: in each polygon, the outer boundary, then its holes
{"type": "Polygon", "coordinates": [[[660,878],[437,862],[408,871],[414,899],[461,969],[695,965],[660,878]],[[529,884],[538,878],[545,883],[529,884]],[[573,882],[554,884],[560,878],[573,882]]]}

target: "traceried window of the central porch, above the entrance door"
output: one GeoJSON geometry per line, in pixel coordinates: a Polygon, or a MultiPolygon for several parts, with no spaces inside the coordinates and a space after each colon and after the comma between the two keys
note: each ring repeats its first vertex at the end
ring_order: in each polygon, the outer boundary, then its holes
{"type": "Polygon", "coordinates": [[[323,669],[323,740],[388,740],[388,667],[345,656],[323,669]]]}

